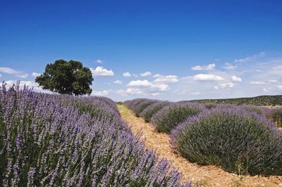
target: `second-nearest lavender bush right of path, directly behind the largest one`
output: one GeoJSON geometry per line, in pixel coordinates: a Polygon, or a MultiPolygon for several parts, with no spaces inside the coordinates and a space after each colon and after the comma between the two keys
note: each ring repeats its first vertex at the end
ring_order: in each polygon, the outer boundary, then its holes
{"type": "Polygon", "coordinates": [[[203,110],[198,103],[173,103],[166,106],[152,117],[152,124],[158,131],[170,133],[171,129],[192,115],[197,115],[203,110]]]}

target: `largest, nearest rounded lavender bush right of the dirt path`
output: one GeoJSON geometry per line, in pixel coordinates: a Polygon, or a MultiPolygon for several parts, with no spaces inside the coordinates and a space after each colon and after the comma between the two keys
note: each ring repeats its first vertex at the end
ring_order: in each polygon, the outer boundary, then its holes
{"type": "Polygon", "coordinates": [[[282,174],[281,131],[239,107],[220,106],[188,118],[171,132],[171,145],[201,165],[245,174],[282,174]]]}

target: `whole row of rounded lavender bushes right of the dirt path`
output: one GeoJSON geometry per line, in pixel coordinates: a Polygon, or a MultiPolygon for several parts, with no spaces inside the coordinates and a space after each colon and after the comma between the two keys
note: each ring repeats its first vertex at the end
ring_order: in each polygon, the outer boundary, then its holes
{"type": "Polygon", "coordinates": [[[135,99],[125,105],[149,116],[145,121],[157,131],[171,134],[173,148],[191,162],[241,174],[282,175],[282,131],[276,127],[281,127],[282,108],[155,101],[138,110],[149,102],[135,99]]]}

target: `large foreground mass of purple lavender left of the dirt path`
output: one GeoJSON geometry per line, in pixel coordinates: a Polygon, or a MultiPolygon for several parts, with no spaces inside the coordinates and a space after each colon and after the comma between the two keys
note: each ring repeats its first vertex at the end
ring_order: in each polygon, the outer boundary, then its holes
{"type": "Polygon", "coordinates": [[[0,89],[0,186],[191,186],[109,98],[0,89]]]}

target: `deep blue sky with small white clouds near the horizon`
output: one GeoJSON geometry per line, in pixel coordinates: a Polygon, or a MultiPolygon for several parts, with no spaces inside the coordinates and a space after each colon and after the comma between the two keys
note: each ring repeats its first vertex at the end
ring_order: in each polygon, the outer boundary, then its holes
{"type": "Polygon", "coordinates": [[[282,94],[281,7],[279,0],[2,0],[0,79],[37,86],[34,76],[63,58],[91,67],[92,94],[116,101],[282,94]]]}

